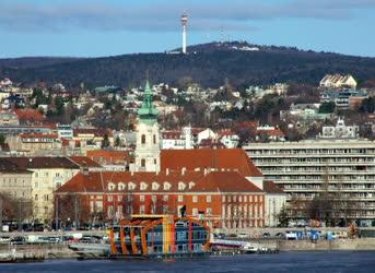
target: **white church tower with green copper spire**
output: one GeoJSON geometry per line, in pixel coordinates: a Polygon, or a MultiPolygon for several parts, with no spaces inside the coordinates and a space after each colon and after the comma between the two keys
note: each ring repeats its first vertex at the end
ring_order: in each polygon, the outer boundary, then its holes
{"type": "Polygon", "coordinates": [[[157,110],[152,105],[152,90],[149,80],[143,92],[142,107],[138,110],[136,171],[160,170],[160,130],[157,110]]]}

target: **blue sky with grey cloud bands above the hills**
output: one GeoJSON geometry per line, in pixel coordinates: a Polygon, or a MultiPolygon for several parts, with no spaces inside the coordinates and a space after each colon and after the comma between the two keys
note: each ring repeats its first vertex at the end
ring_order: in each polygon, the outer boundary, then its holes
{"type": "Polygon", "coordinates": [[[163,52],[258,45],[375,57],[375,0],[0,0],[0,58],[163,52]]]}

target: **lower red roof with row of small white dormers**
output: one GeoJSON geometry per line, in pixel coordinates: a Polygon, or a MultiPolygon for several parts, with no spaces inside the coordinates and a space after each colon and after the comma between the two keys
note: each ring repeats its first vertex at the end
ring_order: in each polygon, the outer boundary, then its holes
{"type": "Polygon", "coordinates": [[[87,175],[80,173],[56,192],[129,192],[127,187],[130,182],[136,186],[131,192],[262,192],[237,171],[213,171],[207,175],[201,171],[186,171],[184,175],[180,171],[171,171],[168,175],[165,171],[93,171],[87,175]],[[108,189],[109,182],[115,185],[113,190],[108,189]],[[124,183],[124,189],[118,188],[120,182],[124,183]],[[152,188],[154,182],[159,185],[157,189],[152,188]],[[165,182],[171,187],[164,188],[165,182]],[[179,182],[185,183],[185,188],[179,188],[179,182]],[[141,189],[142,183],[147,188],[141,189]]]}

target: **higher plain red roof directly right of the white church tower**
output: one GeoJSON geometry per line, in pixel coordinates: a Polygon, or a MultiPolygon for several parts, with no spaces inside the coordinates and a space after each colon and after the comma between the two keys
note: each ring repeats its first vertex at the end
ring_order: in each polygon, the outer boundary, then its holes
{"type": "Polygon", "coordinates": [[[260,170],[242,149],[195,149],[163,150],[161,152],[161,169],[214,168],[219,170],[237,170],[243,176],[259,177],[260,170]]]}

